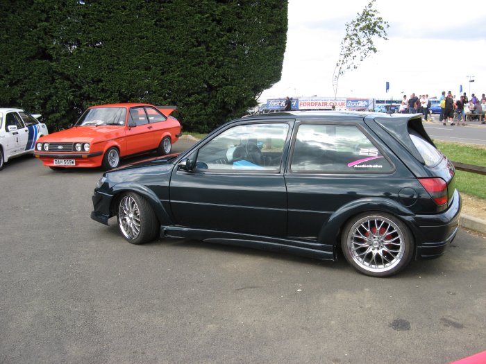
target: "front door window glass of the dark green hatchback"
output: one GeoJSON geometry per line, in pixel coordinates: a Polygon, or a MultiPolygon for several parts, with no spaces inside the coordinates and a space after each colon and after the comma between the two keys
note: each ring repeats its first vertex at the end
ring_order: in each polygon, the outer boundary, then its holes
{"type": "Polygon", "coordinates": [[[286,123],[237,125],[199,150],[196,169],[278,173],[288,131],[286,123]]]}

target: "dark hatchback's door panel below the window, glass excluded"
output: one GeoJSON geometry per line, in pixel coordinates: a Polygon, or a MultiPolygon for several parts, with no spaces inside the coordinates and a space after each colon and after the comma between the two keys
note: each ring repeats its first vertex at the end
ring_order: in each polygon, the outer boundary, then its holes
{"type": "Polygon", "coordinates": [[[179,225],[245,234],[286,234],[287,190],[280,174],[175,171],[170,196],[179,225]]]}

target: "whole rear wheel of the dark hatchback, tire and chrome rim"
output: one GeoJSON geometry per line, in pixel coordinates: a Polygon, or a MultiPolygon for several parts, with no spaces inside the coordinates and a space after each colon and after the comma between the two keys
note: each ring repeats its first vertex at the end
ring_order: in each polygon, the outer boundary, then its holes
{"type": "Polygon", "coordinates": [[[341,235],[341,248],[353,268],[371,277],[389,277],[410,263],[414,241],[395,216],[366,212],[351,218],[341,235]]]}

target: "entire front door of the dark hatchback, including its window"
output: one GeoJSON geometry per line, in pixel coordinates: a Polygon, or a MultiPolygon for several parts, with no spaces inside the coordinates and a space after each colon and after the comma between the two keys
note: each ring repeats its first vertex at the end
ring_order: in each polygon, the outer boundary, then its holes
{"type": "Polygon", "coordinates": [[[194,151],[192,171],[172,173],[171,209],[179,225],[245,234],[287,234],[282,164],[287,123],[235,125],[194,151]]]}

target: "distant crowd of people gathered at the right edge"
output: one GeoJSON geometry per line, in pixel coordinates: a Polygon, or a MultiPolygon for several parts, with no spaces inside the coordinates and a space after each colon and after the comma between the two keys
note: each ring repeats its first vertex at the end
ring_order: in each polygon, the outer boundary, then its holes
{"type": "MultiPolygon", "coordinates": [[[[457,125],[466,125],[466,115],[476,117],[480,123],[485,124],[486,115],[486,97],[485,94],[480,98],[471,94],[471,99],[467,98],[464,92],[460,98],[456,99],[455,95],[449,91],[443,91],[439,98],[439,104],[441,108],[439,121],[444,125],[456,125],[454,123],[454,117],[457,119],[457,125]]],[[[431,106],[431,102],[428,98],[428,94],[415,96],[411,94],[410,98],[407,95],[403,95],[399,112],[404,114],[422,114],[424,120],[428,119],[428,110],[431,106]]]]}

